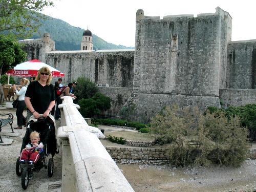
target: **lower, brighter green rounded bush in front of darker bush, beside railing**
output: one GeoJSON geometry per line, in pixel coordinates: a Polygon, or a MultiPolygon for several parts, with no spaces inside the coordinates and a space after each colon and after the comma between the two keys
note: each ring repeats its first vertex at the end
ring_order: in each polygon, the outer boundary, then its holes
{"type": "Polygon", "coordinates": [[[111,99],[104,96],[102,93],[96,93],[89,99],[78,100],[80,106],[79,112],[83,117],[93,117],[100,115],[101,112],[109,110],[111,108],[111,99]]]}

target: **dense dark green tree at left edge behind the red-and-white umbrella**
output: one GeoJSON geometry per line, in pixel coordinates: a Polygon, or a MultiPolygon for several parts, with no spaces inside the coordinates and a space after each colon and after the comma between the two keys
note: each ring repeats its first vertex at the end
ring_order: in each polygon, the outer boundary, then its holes
{"type": "MultiPolygon", "coordinates": [[[[8,70],[15,67],[18,63],[25,61],[26,52],[22,50],[18,42],[11,39],[0,36],[0,77],[2,73],[6,73],[8,70]]],[[[0,100],[3,103],[3,89],[0,88],[0,100]]]]}

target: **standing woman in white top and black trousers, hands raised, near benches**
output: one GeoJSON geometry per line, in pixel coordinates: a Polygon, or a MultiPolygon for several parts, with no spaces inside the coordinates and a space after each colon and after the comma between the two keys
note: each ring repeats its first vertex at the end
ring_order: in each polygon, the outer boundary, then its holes
{"type": "Polygon", "coordinates": [[[22,125],[27,125],[26,118],[23,115],[23,111],[26,107],[25,94],[27,92],[29,80],[26,78],[22,78],[20,79],[19,83],[22,85],[22,89],[20,90],[18,90],[19,88],[17,88],[15,84],[13,84],[13,89],[15,90],[15,93],[18,95],[18,108],[16,111],[18,126],[14,127],[14,129],[22,129],[22,125]]]}

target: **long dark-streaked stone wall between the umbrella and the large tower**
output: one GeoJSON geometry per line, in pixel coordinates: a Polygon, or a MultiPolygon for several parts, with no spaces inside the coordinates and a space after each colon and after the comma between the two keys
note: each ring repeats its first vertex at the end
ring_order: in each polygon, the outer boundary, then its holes
{"type": "Polygon", "coordinates": [[[65,73],[64,84],[87,77],[109,87],[133,86],[133,50],[54,51],[46,54],[46,62],[65,73]]]}

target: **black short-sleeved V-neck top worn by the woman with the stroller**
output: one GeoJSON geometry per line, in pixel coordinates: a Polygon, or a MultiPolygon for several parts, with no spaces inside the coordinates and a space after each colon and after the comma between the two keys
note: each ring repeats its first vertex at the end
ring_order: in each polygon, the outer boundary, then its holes
{"type": "Polygon", "coordinates": [[[56,100],[53,85],[41,86],[38,81],[29,84],[25,97],[31,98],[30,102],[39,114],[44,114],[50,102],[56,100]]]}

